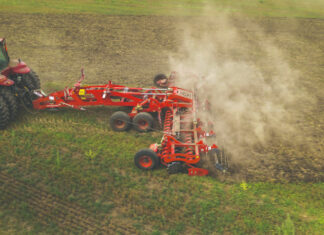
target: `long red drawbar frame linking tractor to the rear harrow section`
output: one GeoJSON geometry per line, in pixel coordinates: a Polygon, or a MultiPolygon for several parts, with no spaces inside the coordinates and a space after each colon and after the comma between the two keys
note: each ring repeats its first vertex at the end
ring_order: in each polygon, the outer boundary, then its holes
{"type": "Polygon", "coordinates": [[[34,108],[41,110],[63,107],[83,109],[86,106],[99,105],[128,106],[133,107],[128,115],[134,117],[139,112],[160,113],[162,109],[171,107],[174,103],[179,107],[188,107],[192,102],[191,93],[177,87],[130,88],[110,81],[104,85],[83,86],[83,79],[82,73],[81,79],[73,88],[65,88],[47,96],[36,92],[39,98],[33,101],[34,108]]]}

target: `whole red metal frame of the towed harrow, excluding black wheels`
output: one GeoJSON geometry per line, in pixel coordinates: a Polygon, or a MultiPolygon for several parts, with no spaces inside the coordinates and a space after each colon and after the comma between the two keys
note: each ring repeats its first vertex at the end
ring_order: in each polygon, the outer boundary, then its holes
{"type": "MultiPolygon", "coordinates": [[[[161,144],[151,145],[151,149],[166,166],[170,163],[182,163],[189,175],[207,175],[208,170],[197,168],[201,156],[218,147],[205,144],[206,133],[196,117],[196,98],[193,92],[178,87],[169,88],[130,88],[112,84],[82,86],[81,79],[73,88],[53,92],[46,96],[36,92],[38,99],[33,101],[35,109],[70,107],[83,109],[85,106],[128,106],[133,118],[139,112],[157,112],[159,121],[164,113],[163,137],[161,144]]],[[[141,158],[142,159],[142,158],[141,158]]],[[[140,163],[141,164],[141,163],[140,163]]],[[[146,164],[141,164],[146,168],[146,164]]],[[[151,166],[151,165],[150,165],[151,166]]],[[[148,167],[150,168],[150,167],[148,167]]]]}

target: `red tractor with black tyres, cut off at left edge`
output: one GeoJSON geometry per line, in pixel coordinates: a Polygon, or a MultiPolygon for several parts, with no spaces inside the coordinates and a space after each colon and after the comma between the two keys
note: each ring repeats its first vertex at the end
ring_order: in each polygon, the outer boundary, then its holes
{"type": "Polygon", "coordinates": [[[6,40],[0,38],[0,129],[15,119],[19,104],[32,107],[33,90],[40,80],[23,61],[11,60],[6,40]]]}

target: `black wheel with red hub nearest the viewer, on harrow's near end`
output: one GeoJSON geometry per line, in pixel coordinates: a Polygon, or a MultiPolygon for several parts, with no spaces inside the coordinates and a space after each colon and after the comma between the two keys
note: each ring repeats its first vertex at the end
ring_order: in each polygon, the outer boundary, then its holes
{"type": "Polygon", "coordinates": [[[152,149],[142,149],[134,156],[135,166],[142,170],[153,170],[160,165],[160,159],[152,149]]]}

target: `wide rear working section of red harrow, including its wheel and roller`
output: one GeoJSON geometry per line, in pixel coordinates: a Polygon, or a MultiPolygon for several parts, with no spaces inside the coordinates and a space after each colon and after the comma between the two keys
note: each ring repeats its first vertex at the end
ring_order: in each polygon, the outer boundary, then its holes
{"type": "Polygon", "coordinates": [[[206,138],[214,137],[213,131],[205,132],[203,123],[197,118],[197,97],[191,91],[186,91],[186,97],[190,97],[188,102],[170,101],[165,110],[163,121],[163,137],[161,143],[150,146],[154,154],[146,155],[144,150],[140,150],[135,155],[135,164],[140,169],[152,170],[158,166],[146,167],[147,161],[153,162],[158,158],[162,165],[165,165],[170,174],[188,172],[188,175],[203,176],[208,174],[207,169],[197,167],[200,160],[207,156],[216,156],[215,168],[225,172],[227,170],[227,157],[216,144],[207,145],[206,138]],[[143,164],[141,156],[151,157],[143,164]]]}

